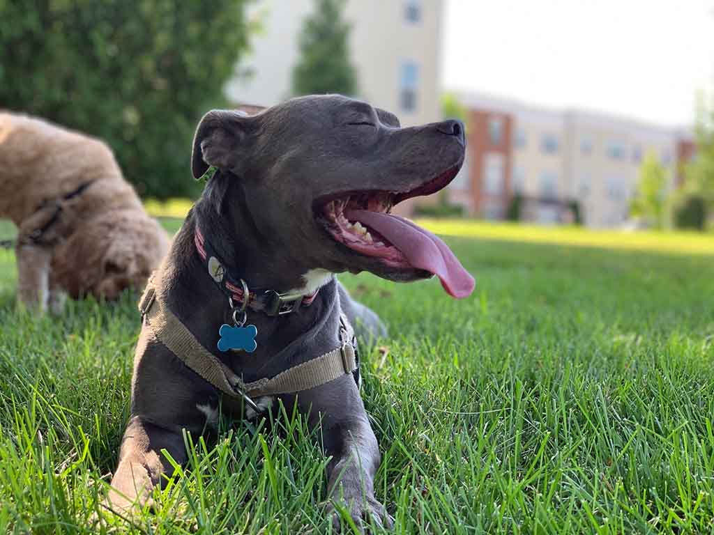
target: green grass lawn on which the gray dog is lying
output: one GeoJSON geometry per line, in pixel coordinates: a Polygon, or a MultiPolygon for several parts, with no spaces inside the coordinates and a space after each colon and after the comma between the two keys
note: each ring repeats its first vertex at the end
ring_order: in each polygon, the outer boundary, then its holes
{"type": "MultiPolygon", "coordinates": [[[[391,328],[365,350],[363,398],[396,531],[713,532],[714,255],[448,242],[477,277],[468,300],[341,277],[391,328]]],[[[129,414],[136,296],[36,318],[15,278],[0,251],[0,532],[93,533],[129,414]]],[[[325,460],[299,417],[278,424],[193,437],[156,514],[101,530],[327,533],[325,460]]]]}

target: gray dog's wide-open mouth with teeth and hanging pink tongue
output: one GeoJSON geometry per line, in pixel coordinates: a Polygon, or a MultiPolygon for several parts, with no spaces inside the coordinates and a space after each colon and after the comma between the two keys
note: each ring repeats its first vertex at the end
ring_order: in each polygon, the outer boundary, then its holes
{"type": "Polygon", "coordinates": [[[319,215],[338,243],[378,258],[388,267],[437,275],[449,295],[466,297],[473,291],[473,277],[448,245],[410,220],[390,213],[402,200],[441,190],[457,172],[458,168],[451,168],[406,193],[368,190],[332,195],[318,203],[319,215]]]}

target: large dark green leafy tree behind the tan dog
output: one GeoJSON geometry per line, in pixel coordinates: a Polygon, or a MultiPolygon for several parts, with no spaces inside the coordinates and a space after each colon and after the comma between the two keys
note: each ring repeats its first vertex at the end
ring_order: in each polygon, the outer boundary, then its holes
{"type": "Polygon", "coordinates": [[[225,105],[247,1],[0,1],[0,107],[103,138],[141,195],[197,193],[193,128],[225,105]]]}

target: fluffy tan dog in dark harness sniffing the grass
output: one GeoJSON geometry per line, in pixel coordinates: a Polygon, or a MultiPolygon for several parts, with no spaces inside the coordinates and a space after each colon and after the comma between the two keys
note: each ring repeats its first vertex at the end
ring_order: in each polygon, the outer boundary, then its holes
{"type": "Polygon", "coordinates": [[[19,300],[40,310],[64,292],[113,299],[142,287],[169,249],[104,143],[4,112],[0,217],[19,230],[19,300]]]}

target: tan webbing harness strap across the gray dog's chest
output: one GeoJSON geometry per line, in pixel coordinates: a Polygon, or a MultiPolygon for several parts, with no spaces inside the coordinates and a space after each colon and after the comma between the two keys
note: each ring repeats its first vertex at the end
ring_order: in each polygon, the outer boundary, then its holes
{"type": "Polygon", "coordinates": [[[231,397],[241,397],[256,410],[254,397],[291,394],[319,387],[358,368],[353,330],[347,318],[340,315],[340,346],[302,364],[298,364],[268,379],[244,383],[238,375],[210,351],[203,347],[191,331],[178,320],[166,305],[161,290],[154,286],[153,277],[139,301],[144,327],[165,345],[178,359],[216,389],[231,397]]]}

